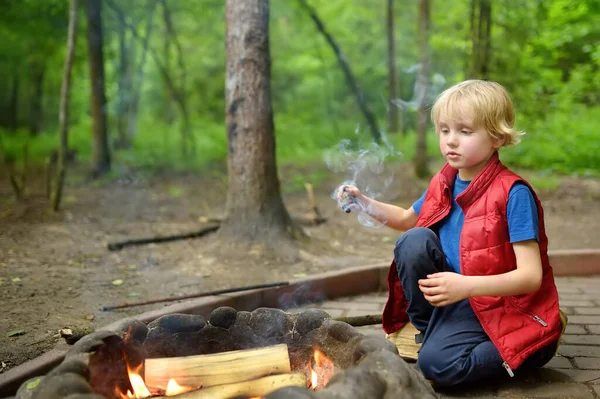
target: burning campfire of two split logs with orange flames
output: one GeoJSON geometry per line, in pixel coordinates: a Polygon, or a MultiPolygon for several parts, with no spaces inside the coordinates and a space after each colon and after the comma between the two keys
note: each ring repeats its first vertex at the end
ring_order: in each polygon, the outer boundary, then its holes
{"type": "Polygon", "coordinates": [[[132,390],[115,390],[119,399],[177,396],[180,399],[262,398],[287,386],[324,388],[335,372],[334,363],[315,349],[304,370],[292,370],[285,344],[258,349],[173,358],[146,359],[141,366],[127,365],[132,390]],[[190,392],[188,395],[184,393],[190,392]]]}

